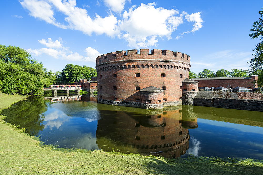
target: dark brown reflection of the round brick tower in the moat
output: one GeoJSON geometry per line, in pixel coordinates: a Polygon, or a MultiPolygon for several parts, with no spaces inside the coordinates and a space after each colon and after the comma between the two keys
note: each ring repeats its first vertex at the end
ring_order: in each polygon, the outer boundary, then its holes
{"type": "Polygon", "coordinates": [[[180,157],[189,148],[181,106],[152,111],[98,104],[98,109],[101,119],[96,131],[97,144],[105,151],[118,149],[171,158],[180,157]]]}

